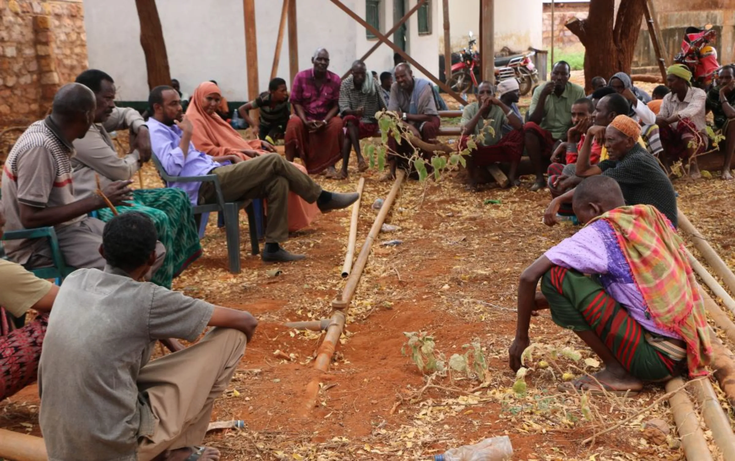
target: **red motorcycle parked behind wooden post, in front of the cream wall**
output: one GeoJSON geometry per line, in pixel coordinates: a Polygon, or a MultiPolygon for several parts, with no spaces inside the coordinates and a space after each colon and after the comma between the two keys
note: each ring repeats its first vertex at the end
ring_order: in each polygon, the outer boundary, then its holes
{"type": "MultiPolygon", "coordinates": [[[[477,51],[477,39],[470,31],[470,42],[459,53],[452,53],[452,78],[448,81],[452,90],[465,93],[476,91],[480,83],[480,53],[477,51]]],[[[520,94],[526,95],[539,81],[539,73],[532,58],[535,51],[509,57],[495,58],[495,82],[516,79],[520,94]]]]}

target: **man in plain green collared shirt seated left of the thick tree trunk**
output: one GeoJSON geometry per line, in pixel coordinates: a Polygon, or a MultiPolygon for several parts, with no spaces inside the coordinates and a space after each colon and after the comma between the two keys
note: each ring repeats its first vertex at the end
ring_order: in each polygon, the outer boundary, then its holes
{"type": "Polygon", "coordinates": [[[551,157],[554,144],[564,138],[572,127],[572,104],[584,98],[584,88],[570,83],[569,63],[559,61],[551,70],[551,81],[537,87],[528,108],[528,123],[524,126],[526,152],[536,171],[532,191],[545,186],[544,167],[551,157]]]}

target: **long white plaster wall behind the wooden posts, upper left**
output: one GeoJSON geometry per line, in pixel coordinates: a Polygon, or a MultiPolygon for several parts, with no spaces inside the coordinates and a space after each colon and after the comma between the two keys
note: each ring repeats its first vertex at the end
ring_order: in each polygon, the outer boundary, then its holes
{"type": "MultiPolygon", "coordinates": [[[[416,0],[406,0],[408,8],[416,0]]],[[[452,0],[455,1],[455,0],[452,0]]],[[[345,6],[365,17],[365,1],[344,0],[345,6]]],[[[85,0],[85,28],[90,68],[104,70],[115,79],[118,99],[142,101],[148,98],[146,61],[140,47],[140,23],[135,0],[85,0]]],[[[230,101],[247,99],[245,32],[241,0],[157,0],[171,76],[182,90],[192,93],[202,81],[215,79],[230,101]]],[[[342,75],[373,46],[365,28],[353,21],[329,0],[298,0],[299,68],[309,68],[317,48],[330,53],[330,70],[342,75]]],[[[417,19],[409,26],[409,54],[437,73],[437,40],[442,21],[432,0],[431,35],[417,34],[417,19]]],[[[273,53],[281,15],[281,1],[256,1],[259,90],[270,79],[273,53]]],[[[384,0],[381,32],[393,24],[392,0],[384,0]]],[[[383,45],[368,59],[368,68],[381,72],[392,67],[392,50],[383,45]]],[[[289,48],[284,35],[278,76],[289,80],[289,48]]]]}

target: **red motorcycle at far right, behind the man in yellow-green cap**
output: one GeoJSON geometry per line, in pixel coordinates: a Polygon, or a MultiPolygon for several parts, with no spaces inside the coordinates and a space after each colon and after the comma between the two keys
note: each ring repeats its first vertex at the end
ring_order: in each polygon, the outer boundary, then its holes
{"type": "Polygon", "coordinates": [[[692,80],[696,87],[708,90],[720,68],[717,62],[717,50],[709,45],[714,42],[717,32],[711,24],[698,27],[687,27],[684,39],[681,40],[681,51],[674,57],[674,62],[686,65],[692,71],[692,80]]]}

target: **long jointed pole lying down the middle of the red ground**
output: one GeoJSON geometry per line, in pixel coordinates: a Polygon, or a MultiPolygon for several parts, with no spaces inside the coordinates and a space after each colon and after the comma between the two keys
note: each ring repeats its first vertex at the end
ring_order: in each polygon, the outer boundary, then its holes
{"type": "MultiPolygon", "coordinates": [[[[373,227],[370,228],[370,233],[365,237],[365,243],[362,244],[362,250],[360,250],[360,254],[357,256],[357,261],[355,261],[352,267],[352,272],[347,279],[347,283],[345,283],[342,294],[331,302],[333,313],[329,321],[329,326],[326,328],[324,341],[319,346],[317,357],[314,360],[314,369],[317,371],[325,372],[329,369],[331,357],[334,356],[334,351],[337,348],[337,344],[339,344],[340,336],[345,329],[345,312],[350,307],[350,301],[357,289],[357,283],[360,280],[360,276],[362,276],[362,271],[365,269],[365,264],[368,263],[370,248],[373,246],[373,242],[380,232],[380,228],[388,215],[388,211],[390,211],[390,207],[393,205],[393,201],[395,201],[395,196],[398,195],[398,189],[401,189],[404,178],[406,178],[406,172],[399,169],[395,173],[395,182],[390,188],[387,197],[385,197],[383,206],[380,208],[378,216],[376,216],[373,222],[373,227]]],[[[321,380],[321,375],[318,375],[306,385],[306,404],[304,405],[306,413],[316,406],[321,380]]]]}

